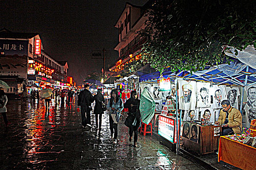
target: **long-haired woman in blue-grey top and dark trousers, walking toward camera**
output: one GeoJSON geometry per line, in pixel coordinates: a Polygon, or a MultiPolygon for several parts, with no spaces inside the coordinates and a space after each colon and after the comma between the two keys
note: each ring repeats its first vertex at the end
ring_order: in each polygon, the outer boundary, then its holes
{"type": "Polygon", "coordinates": [[[110,95],[111,97],[107,104],[107,110],[109,111],[110,132],[113,139],[113,144],[117,144],[118,121],[120,117],[120,112],[123,110],[123,102],[118,95],[117,89],[113,89],[110,95]],[[116,116],[113,117],[112,114],[116,116]]]}

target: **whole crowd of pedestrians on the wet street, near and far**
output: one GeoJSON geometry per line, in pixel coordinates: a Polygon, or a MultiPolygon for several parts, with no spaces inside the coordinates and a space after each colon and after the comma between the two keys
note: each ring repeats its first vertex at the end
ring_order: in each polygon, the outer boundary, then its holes
{"type": "MultiPolygon", "coordinates": [[[[61,99],[61,104],[64,103],[64,98],[67,97],[67,103],[71,103],[74,101],[74,92],[69,90],[67,92],[56,90],[53,95],[55,96],[55,100],[61,99]]],[[[53,95],[44,98],[45,102],[45,109],[49,109],[50,101],[53,95]]],[[[109,126],[111,132],[111,138],[113,139],[113,144],[117,144],[117,137],[118,137],[118,122],[120,119],[121,111],[123,108],[128,108],[128,117],[132,119],[131,124],[129,125],[129,141],[132,141],[132,137],[134,134],[134,147],[137,147],[138,141],[138,128],[141,125],[141,116],[139,112],[139,103],[138,94],[135,90],[131,92],[131,98],[128,99],[125,103],[123,103],[120,95],[118,95],[117,89],[113,89],[110,93],[111,97],[110,100],[107,102],[107,110],[109,114],[109,126]]],[[[23,90],[21,94],[21,103],[25,102],[27,97],[26,91],[23,90]]],[[[35,102],[35,100],[39,102],[39,90],[32,90],[31,91],[31,101],[35,102]]],[[[2,114],[3,120],[5,122],[6,127],[8,126],[8,120],[6,116],[6,103],[8,99],[4,93],[3,89],[0,89],[0,113],[2,114]]],[[[91,111],[93,110],[93,114],[95,114],[95,122],[96,128],[98,128],[99,132],[101,131],[101,124],[102,124],[102,114],[104,114],[102,103],[105,103],[104,96],[102,95],[102,89],[97,90],[96,95],[92,95],[89,91],[89,85],[85,85],[84,89],[79,92],[78,95],[78,106],[81,111],[81,120],[83,127],[92,128],[91,123],[91,111]],[[92,103],[95,102],[94,110],[92,109],[92,103]]]]}

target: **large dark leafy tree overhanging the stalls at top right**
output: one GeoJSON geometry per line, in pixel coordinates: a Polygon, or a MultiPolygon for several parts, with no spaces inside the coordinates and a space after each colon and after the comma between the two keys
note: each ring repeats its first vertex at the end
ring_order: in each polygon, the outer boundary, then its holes
{"type": "Polygon", "coordinates": [[[142,36],[142,59],[159,71],[197,71],[229,63],[223,45],[256,48],[254,0],[154,0],[142,36]]]}

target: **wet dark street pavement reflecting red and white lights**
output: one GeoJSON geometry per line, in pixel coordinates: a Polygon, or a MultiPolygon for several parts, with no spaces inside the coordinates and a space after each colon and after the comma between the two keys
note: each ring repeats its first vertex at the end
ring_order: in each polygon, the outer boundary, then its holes
{"type": "Polygon", "coordinates": [[[98,132],[81,126],[76,103],[61,106],[52,99],[50,105],[47,111],[42,101],[8,101],[8,129],[0,116],[0,170],[204,170],[159,144],[155,136],[139,135],[134,148],[123,120],[118,144],[113,144],[108,114],[102,116],[98,132]]]}

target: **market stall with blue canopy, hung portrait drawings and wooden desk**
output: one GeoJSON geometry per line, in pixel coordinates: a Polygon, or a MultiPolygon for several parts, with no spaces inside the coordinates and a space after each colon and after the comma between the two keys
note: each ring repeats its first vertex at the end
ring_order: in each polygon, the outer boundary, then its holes
{"type": "MultiPolygon", "coordinates": [[[[158,81],[170,78],[171,84],[178,89],[176,94],[178,97],[173,95],[173,99],[176,99],[176,106],[178,105],[177,110],[181,110],[181,113],[183,113],[179,116],[182,120],[181,126],[183,126],[184,121],[196,123],[197,132],[199,133],[196,144],[192,140],[182,139],[181,136],[180,141],[179,138],[177,139],[177,147],[182,144],[184,149],[192,150],[199,154],[205,154],[216,151],[218,147],[221,128],[215,126],[214,122],[218,119],[219,111],[222,108],[220,104],[221,101],[224,99],[229,100],[233,107],[242,112],[242,104],[240,103],[244,102],[244,93],[247,94],[248,88],[250,87],[249,85],[253,86],[256,84],[255,73],[255,68],[251,68],[234,59],[234,62],[231,62],[230,65],[223,64],[216,67],[208,67],[202,71],[194,72],[193,74],[190,74],[188,71],[171,72],[167,70],[162,74],[155,72],[142,75],[139,77],[139,81],[140,89],[148,88],[157,100],[163,97],[163,91],[159,90],[158,81]],[[154,88],[155,86],[158,88],[154,88]],[[189,91],[192,93],[188,97],[185,93],[189,91]],[[188,102],[189,104],[186,103],[188,98],[191,99],[191,102],[188,102]],[[199,124],[202,119],[206,120],[208,125],[199,124]],[[218,131],[215,129],[218,129],[218,131]]],[[[172,85],[170,85],[171,88],[172,85]]],[[[170,94],[172,93],[171,90],[170,94]]],[[[250,100],[249,98],[250,96],[247,101],[250,100]]],[[[163,98],[161,100],[162,101],[159,102],[156,101],[156,103],[164,103],[163,98]]],[[[162,107],[160,107],[160,109],[161,108],[162,107]]],[[[246,111],[246,113],[247,112],[248,111],[246,111]]],[[[159,112],[156,112],[154,118],[155,127],[155,122],[159,121],[156,119],[156,117],[159,118],[158,115],[159,112]]],[[[246,116],[246,118],[248,118],[248,116],[246,116]]],[[[246,122],[249,121],[248,119],[246,120],[246,122]]],[[[176,127],[180,129],[179,126],[176,127]]],[[[178,131],[179,130],[177,130],[177,132],[178,131]]],[[[182,134],[182,127],[180,134],[182,134]]]]}

